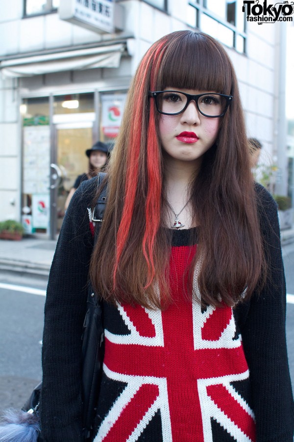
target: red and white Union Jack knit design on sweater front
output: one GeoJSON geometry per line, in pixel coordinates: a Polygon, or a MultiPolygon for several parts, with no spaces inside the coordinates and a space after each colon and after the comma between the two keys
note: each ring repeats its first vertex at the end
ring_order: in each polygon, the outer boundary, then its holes
{"type": "Polygon", "coordinates": [[[167,310],[119,305],[130,333],[105,330],[104,373],[126,387],[95,442],[137,441],[158,412],[162,434],[152,441],[215,442],[212,421],[232,440],[255,441],[254,414],[232,385],[249,376],[232,308],[203,312],[183,296],[185,267],[195,252],[196,246],[172,248],[174,302],[167,310]]]}

